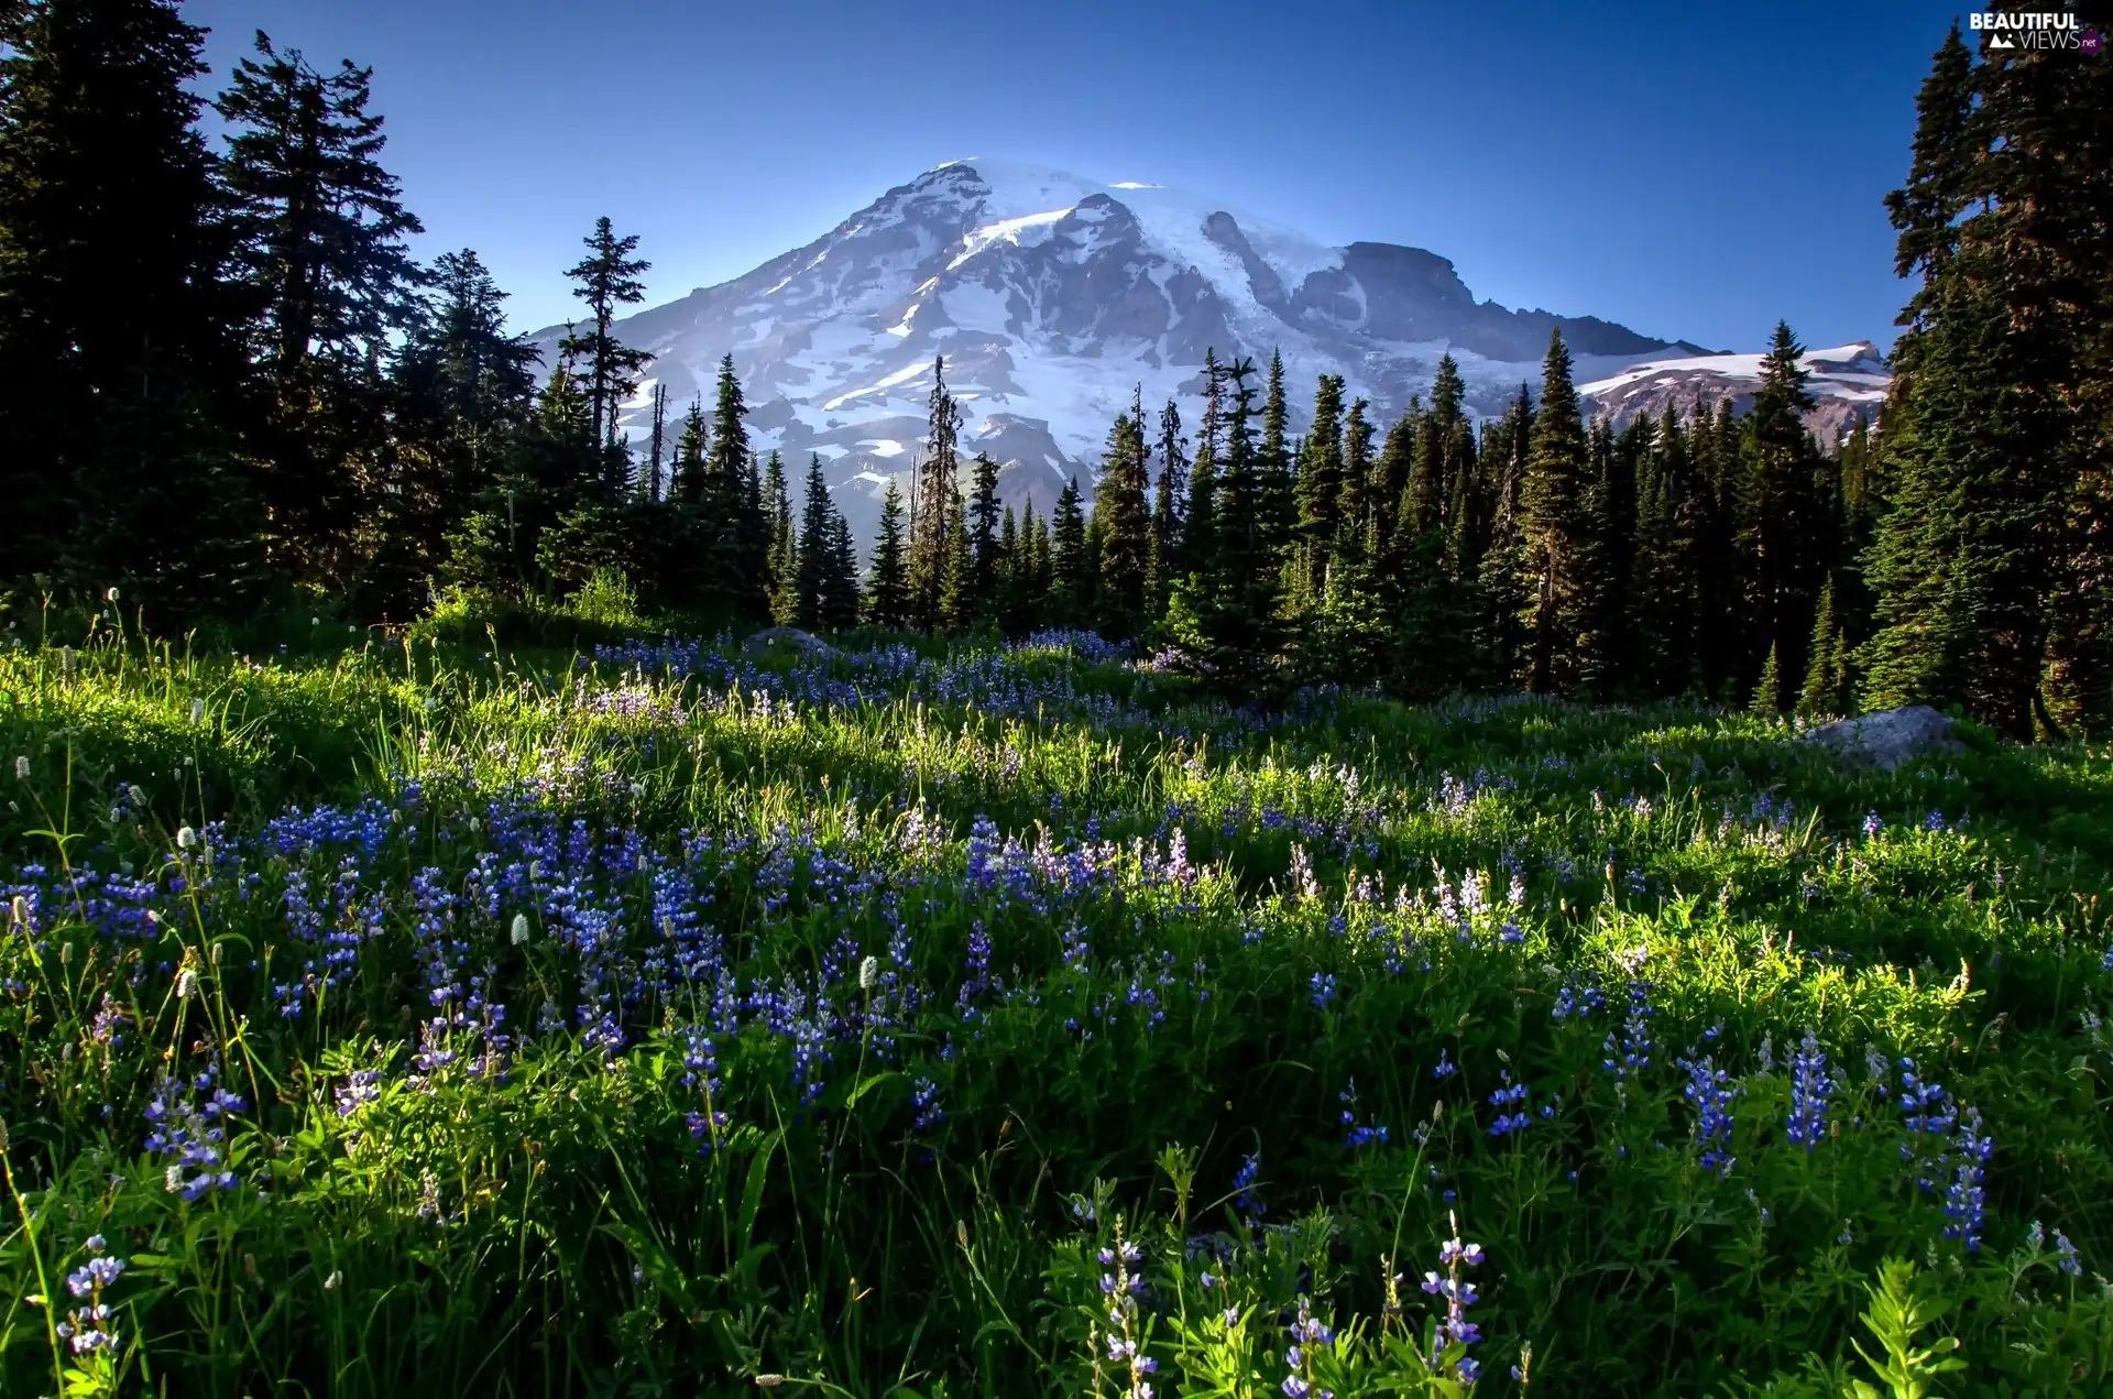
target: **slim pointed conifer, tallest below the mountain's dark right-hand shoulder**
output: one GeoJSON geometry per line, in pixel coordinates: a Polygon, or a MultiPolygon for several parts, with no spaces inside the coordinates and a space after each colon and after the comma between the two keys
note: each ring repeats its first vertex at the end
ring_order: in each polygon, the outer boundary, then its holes
{"type": "Polygon", "coordinates": [[[1585,469],[1587,442],[1570,380],[1570,351],[1562,330],[1555,330],[1540,370],[1540,410],[1534,414],[1519,488],[1526,566],[1532,577],[1519,678],[1534,693],[1568,695],[1578,683],[1576,649],[1591,611],[1585,469]]]}

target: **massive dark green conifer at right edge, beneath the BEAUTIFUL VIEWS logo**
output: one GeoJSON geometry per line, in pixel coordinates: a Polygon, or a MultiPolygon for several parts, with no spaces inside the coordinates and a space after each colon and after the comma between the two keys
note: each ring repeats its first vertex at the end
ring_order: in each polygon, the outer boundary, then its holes
{"type": "Polygon", "coordinates": [[[1889,509],[1864,704],[1957,702],[2005,733],[2113,708],[2102,581],[2113,391],[2105,66],[1988,53],[1957,27],[1889,201],[1921,285],[1885,414],[1889,509]],[[2094,678],[2096,676],[2096,678],[2094,678]],[[2050,704],[2050,689],[2054,704],[2050,704]]]}

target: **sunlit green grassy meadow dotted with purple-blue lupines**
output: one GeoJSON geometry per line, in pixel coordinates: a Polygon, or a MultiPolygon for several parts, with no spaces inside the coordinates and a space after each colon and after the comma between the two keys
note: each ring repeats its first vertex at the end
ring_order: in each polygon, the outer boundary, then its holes
{"type": "Polygon", "coordinates": [[[0,653],[0,1395],[2107,1386],[2105,754],[568,626],[0,653]]]}

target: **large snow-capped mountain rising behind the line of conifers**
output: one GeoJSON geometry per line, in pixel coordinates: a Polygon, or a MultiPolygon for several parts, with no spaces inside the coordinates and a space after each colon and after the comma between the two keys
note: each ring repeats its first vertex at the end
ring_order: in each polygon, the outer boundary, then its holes
{"type": "MultiPolygon", "coordinates": [[[[985,158],[930,169],[814,243],[640,311],[619,334],[657,355],[651,374],[674,406],[710,397],[731,353],[759,448],[782,450],[794,480],[818,452],[864,539],[881,488],[923,437],[936,355],[961,402],[964,446],[1006,463],[1010,501],[1048,509],[1067,475],[1092,482],[1135,393],[1154,414],[1185,399],[1194,427],[1207,349],[1257,368],[1280,351],[1293,416],[1319,374],[1342,374],[1386,423],[1428,393],[1447,351],[1469,404],[1500,410],[1521,383],[1538,385],[1555,325],[1578,380],[1597,380],[1614,412],[1631,412],[1648,397],[1635,385],[1663,374],[1735,389],[1754,359],[1477,302],[1452,262],[1420,247],[1325,247],[1196,194],[985,158]]],[[[545,361],[556,338],[537,336],[545,361]]],[[[1866,393],[1872,374],[1855,374],[1840,387],[1866,393]]],[[[634,440],[651,389],[625,410],[634,440]]]]}

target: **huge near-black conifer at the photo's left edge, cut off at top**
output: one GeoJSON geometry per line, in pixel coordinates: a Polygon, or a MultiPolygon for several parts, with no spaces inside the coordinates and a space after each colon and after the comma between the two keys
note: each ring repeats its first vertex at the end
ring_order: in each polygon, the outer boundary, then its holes
{"type": "Polygon", "coordinates": [[[173,619],[264,581],[203,40],[173,0],[0,6],[0,587],[173,619]]]}

